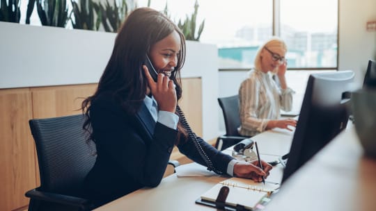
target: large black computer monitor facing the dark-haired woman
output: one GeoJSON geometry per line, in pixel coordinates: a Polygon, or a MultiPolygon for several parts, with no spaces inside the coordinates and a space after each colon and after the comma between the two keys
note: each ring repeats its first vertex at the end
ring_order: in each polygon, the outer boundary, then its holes
{"type": "Polygon", "coordinates": [[[353,80],[353,71],[309,76],[282,183],[346,128],[353,80]]]}

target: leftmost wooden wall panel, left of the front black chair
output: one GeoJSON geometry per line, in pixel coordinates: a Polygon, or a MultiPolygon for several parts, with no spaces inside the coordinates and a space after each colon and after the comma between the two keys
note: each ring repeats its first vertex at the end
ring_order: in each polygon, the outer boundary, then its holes
{"type": "Polygon", "coordinates": [[[29,89],[0,90],[0,117],[0,210],[15,210],[29,203],[24,193],[36,187],[29,89]]]}

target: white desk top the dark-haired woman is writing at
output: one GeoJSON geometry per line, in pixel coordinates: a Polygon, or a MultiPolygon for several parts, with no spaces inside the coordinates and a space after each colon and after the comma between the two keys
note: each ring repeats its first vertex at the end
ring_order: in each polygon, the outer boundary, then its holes
{"type": "MultiPolygon", "coordinates": [[[[260,154],[263,154],[262,159],[272,161],[290,150],[292,135],[293,133],[288,130],[274,129],[256,135],[252,139],[258,141],[260,154]]],[[[231,153],[231,151],[227,150],[225,153],[231,153]]],[[[279,165],[279,167],[274,167],[267,180],[278,182],[281,180],[282,174],[283,169],[279,165]]],[[[213,208],[198,205],[194,201],[216,183],[225,179],[226,177],[221,176],[178,178],[176,174],[173,174],[164,178],[155,188],[139,189],[96,210],[213,211],[213,208]]]]}

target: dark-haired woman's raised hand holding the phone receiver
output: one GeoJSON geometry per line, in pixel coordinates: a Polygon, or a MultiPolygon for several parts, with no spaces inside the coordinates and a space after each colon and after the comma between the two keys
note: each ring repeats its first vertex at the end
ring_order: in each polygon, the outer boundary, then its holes
{"type": "Polygon", "coordinates": [[[158,103],[159,110],[175,112],[178,99],[176,97],[175,84],[173,84],[173,81],[164,74],[158,74],[158,80],[155,82],[152,76],[150,76],[148,67],[146,67],[146,65],[142,67],[148,79],[152,96],[154,96],[155,101],[158,103]]]}

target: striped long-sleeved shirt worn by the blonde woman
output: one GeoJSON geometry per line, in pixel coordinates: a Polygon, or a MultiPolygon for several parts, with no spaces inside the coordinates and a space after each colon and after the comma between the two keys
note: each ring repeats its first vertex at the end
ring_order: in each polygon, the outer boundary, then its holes
{"type": "Polygon", "coordinates": [[[292,94],[276,85],[271,74],[257,69],[249,72],[240,85],[240,135],[253,136],[265,130],[267,122],[281,117],[280,110],[292,109],[292,94]]]}

